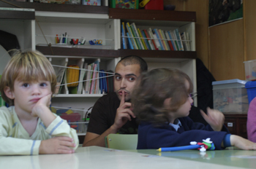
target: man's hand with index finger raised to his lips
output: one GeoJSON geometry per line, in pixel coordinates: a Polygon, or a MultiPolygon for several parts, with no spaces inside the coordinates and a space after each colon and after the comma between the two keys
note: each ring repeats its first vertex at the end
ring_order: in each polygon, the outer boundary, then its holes
{"type": "Polygon", "coordinates": [[[121,95],[121,101],[120,106],[116,110],[116,118],[114,124],[111,126],[113,127],[113,130],[118,131],[119,128],[121,128],[127,121],[131,121],[132,117],[135,118],[135,114],[133,114],[130,107],[132,106],[132,103],[127,103],[124,100],[124,91],[122,91],[121,95]]]}

